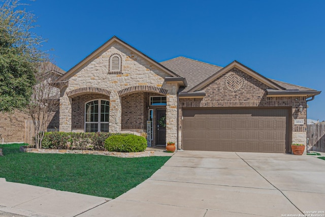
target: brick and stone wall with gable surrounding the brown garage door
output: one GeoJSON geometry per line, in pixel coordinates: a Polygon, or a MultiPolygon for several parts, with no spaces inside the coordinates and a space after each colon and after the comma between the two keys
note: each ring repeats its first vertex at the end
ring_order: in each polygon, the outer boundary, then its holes
{"type": "Polygon", "coordinates": [[[181,126],[182,126],[182,108],[224,108],[224,107],[287,107],[291,108],[291,130],[293,143],[306,144],[307,131],[307,103],[305,97],[267,97],[266,84],[256,80],[248,74],[237,68],[233,68],[217,78],[214,82],[203,88],[206,92],[204,98],[180,98],[179,99],[179,146],[181,147],[181,126]],[[230,90],[227,85],[227,76],[236,74],[244,78],[243,85],[238,90],[230,90]],[[296,111],[296,108],[302,104],[303,112],[296,111]],[[294,119],[304,119],[304,125],[294,125],[294,119]]]}

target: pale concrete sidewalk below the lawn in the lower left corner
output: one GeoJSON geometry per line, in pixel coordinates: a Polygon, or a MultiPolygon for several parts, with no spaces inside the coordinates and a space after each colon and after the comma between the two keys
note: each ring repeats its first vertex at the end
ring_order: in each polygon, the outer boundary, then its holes
{"type": "Polygon", "coordinates": [[[76,216],[110,200],[0,178],[0,216],[8,216],[1,212],[17,216],[76,216]]]}

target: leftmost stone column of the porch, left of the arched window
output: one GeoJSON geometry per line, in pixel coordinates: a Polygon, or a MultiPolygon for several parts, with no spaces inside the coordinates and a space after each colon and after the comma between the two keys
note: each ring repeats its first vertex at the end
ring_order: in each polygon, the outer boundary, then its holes
{"type": "MultiPolygon", "coordinates": [[[[63,91],[64,93],[64,91],[63,91]]],[[[71,122],[71,114],[72,114],[72,99],[67,96],[66,93],[60,97],[60,132],[71,132],[72,122],[71,122]]]]}

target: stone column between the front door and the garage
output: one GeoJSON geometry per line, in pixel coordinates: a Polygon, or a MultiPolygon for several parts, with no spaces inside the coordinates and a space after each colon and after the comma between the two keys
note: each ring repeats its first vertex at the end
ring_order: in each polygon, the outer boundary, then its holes
{"type": "Polygon", "coordinates": [[[166,142],[177,145],[177,83],[170,84],[166,106],[166,142]]]}

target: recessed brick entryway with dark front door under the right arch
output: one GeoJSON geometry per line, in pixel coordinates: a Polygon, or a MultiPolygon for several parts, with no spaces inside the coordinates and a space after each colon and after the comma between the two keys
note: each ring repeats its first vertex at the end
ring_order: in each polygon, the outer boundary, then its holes
{"type": "Polygon", "coordinates": [[[166,145],[167,90],[124,91],[120,102],[121,133],[146,133],[148,146],[166,145]]]}

